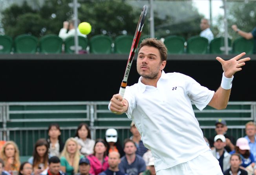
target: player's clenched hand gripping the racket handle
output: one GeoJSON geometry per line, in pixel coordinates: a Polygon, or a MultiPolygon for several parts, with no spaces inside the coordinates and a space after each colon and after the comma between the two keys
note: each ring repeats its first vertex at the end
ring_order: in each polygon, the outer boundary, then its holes
{"type": "Polygon", "coordinates": [[[123,114],[128,110],[128,101],[120,94],[115,94],[110,100],[110,110],[115,114],[123,114]]]}

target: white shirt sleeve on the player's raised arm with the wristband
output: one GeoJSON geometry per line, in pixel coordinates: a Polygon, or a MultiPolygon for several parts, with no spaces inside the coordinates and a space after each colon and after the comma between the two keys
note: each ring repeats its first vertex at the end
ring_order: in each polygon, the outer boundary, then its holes
{"type": "Polygon", "coordinates": [[[207,106],[211,101],[214,91],[201,86],[191,77],[187,76],[186,80],[186,91],[188,97],[193,103],[195,103],[199,110],[203,110],[203,108],[205,108],[205,106],[207,106]]]}

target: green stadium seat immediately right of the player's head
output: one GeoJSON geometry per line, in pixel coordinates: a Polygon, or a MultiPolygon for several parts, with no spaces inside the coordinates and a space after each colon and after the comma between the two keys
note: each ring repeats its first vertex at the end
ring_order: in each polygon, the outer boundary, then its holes
{"type": "Polygon", "coordinates": [[[165,38],[165,46],[170,54],[184,53],[185,39],[181,36],[167,36],[165,38]]]}

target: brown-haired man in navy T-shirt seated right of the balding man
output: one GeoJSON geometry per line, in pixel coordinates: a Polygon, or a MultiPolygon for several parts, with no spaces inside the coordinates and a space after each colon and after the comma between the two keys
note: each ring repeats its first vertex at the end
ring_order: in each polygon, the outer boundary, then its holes
{"type": "Polygon", "coordinates": [[[121,158],[119,170],[128,175],[141,175],[146,170],[146,164],[141,156],[136,155],[137,148],[135,143],[126,139],[124,141],[125,155],[121,158]]]}

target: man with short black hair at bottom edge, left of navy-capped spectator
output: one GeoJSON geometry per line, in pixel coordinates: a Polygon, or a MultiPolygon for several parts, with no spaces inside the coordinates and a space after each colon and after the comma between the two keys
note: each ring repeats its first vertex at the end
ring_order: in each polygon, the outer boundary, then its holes
{"type": "Polygon", "coordinates": [[[57,156],[53,156],[48,160],[48,168],[44,170],[41,175],[63,175],[60,170],[60,159],[57,156]]]}

